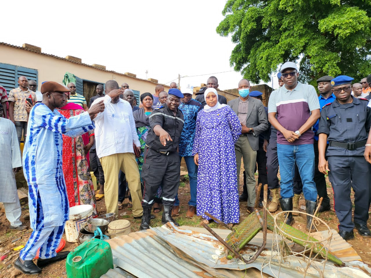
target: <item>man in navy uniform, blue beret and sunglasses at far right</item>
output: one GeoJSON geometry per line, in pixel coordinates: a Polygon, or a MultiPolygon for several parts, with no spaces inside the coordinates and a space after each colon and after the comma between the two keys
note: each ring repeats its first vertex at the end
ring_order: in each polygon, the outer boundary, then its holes
{"type": "Polygon", "coordinates": [[[322,108],[317,131],[318,169],[324,174],[328,171],[334,190],[334,209],[340,222],[339,235],[345,240],[354,238],[354,226],[361,236],[371,238],[367,228],[371,165],[363,156],[371,125],[371,109],[367,107],[368,100],[351,95],[352,80],[345,75],[331,80],[336,100],[322,108]],[[354,191],[354,222],[351,188],[354,191]]]}

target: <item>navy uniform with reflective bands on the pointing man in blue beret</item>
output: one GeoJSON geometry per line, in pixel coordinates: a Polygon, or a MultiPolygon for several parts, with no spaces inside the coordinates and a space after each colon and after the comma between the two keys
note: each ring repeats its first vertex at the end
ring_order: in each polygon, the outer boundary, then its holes
{"type": "Polygon", "coordinates": [[[183,113],[177,109],[174,116],[167,106],[160,106],[150,115],[144,163],[142,166],[142,180],[144,181],[143,207],[152,206],[158,186],[162,184],[162,204],[173,205],[178,192],[180,181],[180,160],[177,148],[183,130],[183,113]],[[153,128],[160,125],[169,133],[173,141],[167,141],[166,146],[160,142],[153,128]]]}

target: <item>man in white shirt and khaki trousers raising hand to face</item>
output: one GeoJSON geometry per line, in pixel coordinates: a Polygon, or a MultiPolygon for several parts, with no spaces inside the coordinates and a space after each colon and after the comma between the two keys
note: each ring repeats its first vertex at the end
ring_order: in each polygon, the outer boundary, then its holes
{"type": "Polygon", "coordinates": [[[104,100],[105,110],[98,113],[95,120],[96,154],[101,161],[105,173],[104,196],[107,213],[118,215],[118,172],[125,173],[133,202],[133,216],[138,219],[143,215],[141,205],[141,186],[134,148],[140,151],[140,142],[131,105],[119,96],[111,99],[107,94],[119,89],[115,80],[108,80],[105,86],[105,96],[96,99],[94,103],[104,100]],[[134,146],[133,146],[134,144],[134,146]]]}

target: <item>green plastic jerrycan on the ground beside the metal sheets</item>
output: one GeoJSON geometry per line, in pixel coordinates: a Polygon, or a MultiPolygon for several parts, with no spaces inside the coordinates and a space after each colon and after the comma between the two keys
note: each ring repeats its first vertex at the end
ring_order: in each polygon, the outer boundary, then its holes
{"type": "Polygon", "coordinates": [[[67,278],[99,278],[114,268],[112,250],[108,242],[89,239],[67,256],[67,278]]]}

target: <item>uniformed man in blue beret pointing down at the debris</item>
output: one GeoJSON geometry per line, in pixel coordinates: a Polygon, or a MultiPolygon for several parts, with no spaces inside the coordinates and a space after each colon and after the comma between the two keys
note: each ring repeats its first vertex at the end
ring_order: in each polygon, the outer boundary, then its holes
{"type": "Polygon", "coordinates": [[[150,115],[142,166],[143,216],[141,230],[150,226],[151,208],[158,186],[162,184],[162,223],[173,222],[171,209],[178,192],[180,181],[179,138],[183,130],[183,113],[178,109],[183,94],[178,89],[170,89],[165,105],[156,108],[150,115]]]}

